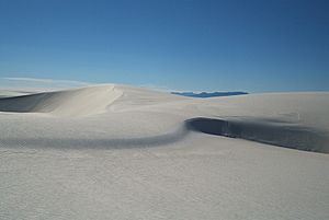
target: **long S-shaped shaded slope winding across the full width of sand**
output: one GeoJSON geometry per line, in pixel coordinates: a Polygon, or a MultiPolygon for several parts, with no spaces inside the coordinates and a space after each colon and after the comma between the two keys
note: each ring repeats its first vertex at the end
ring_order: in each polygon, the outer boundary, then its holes
{"type": "Polygon", "coordinates": [[[171,132],[138,138],[14,138],[1,139],[4,147],[23,146],[27,148],[56,149],[132,149],[171,144],[183,140],[190,132],[240,138],[245,140],[284,147],[290,149],[329,153],[329,139],[326,135],[310,128],[298,126],[274,126],[269,124],[229,121],[224,119],[197,117],[183,123],[171,132]]]}

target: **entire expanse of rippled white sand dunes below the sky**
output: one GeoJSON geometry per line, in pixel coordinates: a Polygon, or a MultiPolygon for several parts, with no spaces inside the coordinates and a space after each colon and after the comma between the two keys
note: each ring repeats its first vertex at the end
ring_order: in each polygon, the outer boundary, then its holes
{"type": "Polygon", "coordinates": [[[2,97],[0,219],[327,220],[328,113],[326,92],[2,97]]]}

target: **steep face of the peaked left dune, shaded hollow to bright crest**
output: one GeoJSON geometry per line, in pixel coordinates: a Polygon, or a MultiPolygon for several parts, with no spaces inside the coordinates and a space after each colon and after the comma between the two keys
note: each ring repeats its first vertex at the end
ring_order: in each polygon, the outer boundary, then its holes
{"type": "Polygon", "coordinates": [[[106,107],[122,94],[122,91],[111,84],[35,93],[1,99],[0,111],[49,113],[56,116],[90,116],[106,112],[106,107]]]}

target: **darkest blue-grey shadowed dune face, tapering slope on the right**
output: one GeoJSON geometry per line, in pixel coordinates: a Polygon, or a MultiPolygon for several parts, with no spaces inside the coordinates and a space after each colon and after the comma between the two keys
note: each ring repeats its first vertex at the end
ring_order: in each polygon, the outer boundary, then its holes
{"type": "Polygon", "coordinates": [[[314,128],[204,117],[189,119],[185,126],[191,130],[209,135],[241,138],[297,150],[329,152],[329,138],[314,128]]]}

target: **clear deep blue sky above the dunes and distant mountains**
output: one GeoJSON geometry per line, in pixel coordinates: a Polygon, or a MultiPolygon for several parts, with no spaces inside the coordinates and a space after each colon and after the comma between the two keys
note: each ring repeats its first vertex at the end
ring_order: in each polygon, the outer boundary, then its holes
{"type": "Polygon", "coordinates": [[[12,77],[329,91],[329,1],[0,0],[0,78],[12,77]]]}

